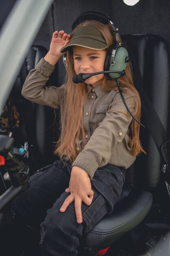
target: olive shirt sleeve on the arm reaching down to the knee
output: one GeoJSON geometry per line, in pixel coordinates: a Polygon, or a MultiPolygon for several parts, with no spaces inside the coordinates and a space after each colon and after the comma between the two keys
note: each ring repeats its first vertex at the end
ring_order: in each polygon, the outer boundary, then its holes
{"type": "MultiPolygon", "coordinates": [[[[73,163],[73,166],[79,166],[87,171],[91,178],[98,167],[108,164],[111,156],[114,155],[114,150],[120,150],[121,147],[117,149],[117,144],[122,144],[122,150],[126,146],[126,150],[130,150],[127,140],[129,138],[128,128],[132,117],[128,114],[120,96],[116,97],[117,99],[114,99],[113,103],[110,104],[106,117],[98,124],[86,146],[73,163]],[[128,115],[119,111],[124,111],[128,115]]],[[[135,97],[126,94],[124,97],[130,111],[133,112],[135,97]]],[[[130,152],[128,153],[130,154],[130,152]]]]}

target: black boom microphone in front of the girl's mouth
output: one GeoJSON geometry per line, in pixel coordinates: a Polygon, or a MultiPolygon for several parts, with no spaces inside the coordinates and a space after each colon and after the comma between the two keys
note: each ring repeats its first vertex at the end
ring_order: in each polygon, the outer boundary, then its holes
{"type": "Polygon", "coordinates": [[[101,72],[97,72],[97,73],[91,73],[91,74],[83,74],[83,73],[79,73],[78,75],[73,76],[73,83],[84,83],[84,81],[88,78],[90,78],[91,76],[96,76],[98,74],[107,74],[107,73],[118,73],[120,74],[120,76],[124,76],[125,75],[125,71],[101,71],[101,72]]]}

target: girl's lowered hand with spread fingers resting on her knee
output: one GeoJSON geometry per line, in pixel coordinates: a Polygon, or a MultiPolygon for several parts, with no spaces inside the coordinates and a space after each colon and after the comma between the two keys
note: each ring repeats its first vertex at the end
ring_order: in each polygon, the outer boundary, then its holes
{"type": "Polygon", "coordinates": [[[82,201],[90,205],[93,200],[94,192],[91,189],[91,181],[88,173],[78,166],[73,166],[71,170],[70,184],[67,193],[70,193],[62,207],[61,212],[66,211],[67,207],[71,202],[75,201],[75,214],[77,223],[82,223],[82,201]]]}

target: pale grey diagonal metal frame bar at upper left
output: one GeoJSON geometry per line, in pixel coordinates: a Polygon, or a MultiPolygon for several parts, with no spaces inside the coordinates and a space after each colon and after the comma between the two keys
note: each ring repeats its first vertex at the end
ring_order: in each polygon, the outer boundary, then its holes
{"type": "Polygon", "coordinates": [[[0,33],[0,115],[53,0],[18,0],[0,33]]]}

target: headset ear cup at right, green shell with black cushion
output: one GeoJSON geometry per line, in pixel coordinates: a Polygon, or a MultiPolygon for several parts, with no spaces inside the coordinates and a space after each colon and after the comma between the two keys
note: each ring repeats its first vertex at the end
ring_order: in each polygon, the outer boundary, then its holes
{"type": "MultiPolygon", "coordinates": [[[[105,58],[104,70],[110,70],[110,71],[125,70],[128,61],[129,61],[128,51],[126,50],[126,48],[121,46],[116,46],[112,48],[110,51],[108,51],[108,54],[106,55],[106,58],[105,58]],[[112,53],[114,54],[113,60],[112,60],[112,53]]],[[[109,73],[108,75],[112,79],[116,79],[121,76],[121,74],[119,73],[109,73]]]]}

